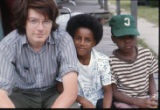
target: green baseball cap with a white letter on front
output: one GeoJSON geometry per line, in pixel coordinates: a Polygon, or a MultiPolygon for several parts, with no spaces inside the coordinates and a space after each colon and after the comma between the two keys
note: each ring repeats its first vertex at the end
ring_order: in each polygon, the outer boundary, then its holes
{"type": "Polygon", "coordinates": [[[110,19],[109,25],[113,36],[139,35],[135,20],[131,15],[115,15],[110,19]]]}

